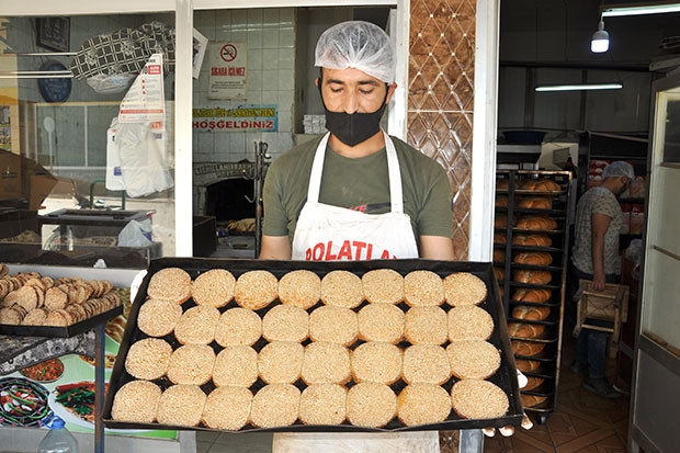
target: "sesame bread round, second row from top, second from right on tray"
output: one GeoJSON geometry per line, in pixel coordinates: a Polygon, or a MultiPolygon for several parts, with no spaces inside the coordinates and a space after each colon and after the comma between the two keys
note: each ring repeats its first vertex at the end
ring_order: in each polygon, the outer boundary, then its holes
{"type": "Polygon", "coordinates": [[[404,337],[411,344],[442,344],[449,338],[446,312],[438,306],[411,307],[406,312],[404,337]]]}

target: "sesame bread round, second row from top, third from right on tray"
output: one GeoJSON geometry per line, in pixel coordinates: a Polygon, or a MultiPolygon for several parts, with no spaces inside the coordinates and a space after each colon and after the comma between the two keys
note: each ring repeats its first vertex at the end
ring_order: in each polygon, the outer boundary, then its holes
{"type": "Polygon", "coordinates": [[[404,338],[405,315],[393,304],[369,304],[356,314],[359,338],[396,344],[404,338]]]}

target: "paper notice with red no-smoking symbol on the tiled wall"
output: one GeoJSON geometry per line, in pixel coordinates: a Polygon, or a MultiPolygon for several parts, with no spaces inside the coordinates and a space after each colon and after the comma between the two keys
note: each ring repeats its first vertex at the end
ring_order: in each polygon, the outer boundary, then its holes
{"type": "Polygon", "coordinates": [[[208,99],[246,99],[248,44],[214,43],[208,49],[211,73],[208,99]]]}

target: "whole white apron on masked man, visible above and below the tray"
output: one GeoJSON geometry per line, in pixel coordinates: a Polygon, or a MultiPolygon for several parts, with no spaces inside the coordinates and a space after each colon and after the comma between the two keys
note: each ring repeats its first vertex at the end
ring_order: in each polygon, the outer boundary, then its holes
{"type": "MultiPolygon", "coordinates": [[[[385,133],[383,133],[385,134],[385,133]]],[[[327,134],[319,144],[307,203],[301,212],[294,260],[335,261],[381,258],[418,258],[418,246],[408,215],[404,214],[401,173],[392,138],[385,134],[389,173],[389,213],[370,215],[321,204],[319,191],[327,134]]],[[[276,432],[272,453],[439,453],[438,431],[411,432],[276,432]]]]}

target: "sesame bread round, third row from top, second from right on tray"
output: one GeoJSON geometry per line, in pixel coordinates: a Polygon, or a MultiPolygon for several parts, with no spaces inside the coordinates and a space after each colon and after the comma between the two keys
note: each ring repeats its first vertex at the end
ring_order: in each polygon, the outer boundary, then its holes
{"type": "Polygon", "coordinates": [[[444,348],[413,344],[404,351],[404,382],[442,385],[451,378],[451,365],[444,348]]]}

